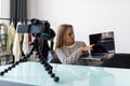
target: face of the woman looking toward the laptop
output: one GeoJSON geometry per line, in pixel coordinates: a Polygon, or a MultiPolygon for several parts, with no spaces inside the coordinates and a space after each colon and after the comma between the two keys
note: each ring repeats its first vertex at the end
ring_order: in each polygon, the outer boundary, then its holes
{"type": "Polygon", "coordinates": [[[65,41],[65,45],[68,45],[68,46],[75,43],[75,35],[74,35],[73,28],[69,27],[66,30],[64,41],[65,41]]]}

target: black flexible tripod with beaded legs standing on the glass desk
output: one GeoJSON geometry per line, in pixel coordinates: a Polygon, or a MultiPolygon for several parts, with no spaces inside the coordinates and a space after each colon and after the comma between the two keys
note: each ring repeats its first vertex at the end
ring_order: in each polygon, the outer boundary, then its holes
{"type": "Polygon", "coordinates": [[[20,62],[23,62],[24,60],[27,60],[27,58],[29,58],[30,55],[32,55],[32,52],[36,51],[38,59],[41,62],[41,64],[43,64],[44,70],[48,71],[50,76],[54,78],[54,82],[58,82],[60,81],[58,76],[55,76],[55,74],[52,72],[53,68],[48,63],[48,61],[46,60],[46,58],[42,56],[41,52],[39,51],[39,43],[38,43],[38,38],[37,37],[35,37],[35,40],[34,40],[34,42],[30,45],[32,45],[32,48],[29,52],[29,54],[23,56],[23,58],[21,58],[18,61],[13,63],[11,67],[9,67],[9,68],[4,69],[3,71],[1,71],[0,75],[1,76],[4,75],[4,73],[8,73],[8,71],[10,71],[13,68],[15,68],[15,66],[17,66],[20,62]]]}

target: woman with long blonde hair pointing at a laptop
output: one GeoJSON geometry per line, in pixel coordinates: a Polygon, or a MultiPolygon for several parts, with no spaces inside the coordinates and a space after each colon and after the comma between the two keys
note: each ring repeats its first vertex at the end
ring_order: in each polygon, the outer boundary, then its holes
{"type": "Polygon", "coordinates": [[[63,24],[58,27],[55,53],[62,63],[78,64],[79,58],[88,54],[93,45],[86,45],[84,42],[75,41],[74,28],[72,25],[63,24]]]}

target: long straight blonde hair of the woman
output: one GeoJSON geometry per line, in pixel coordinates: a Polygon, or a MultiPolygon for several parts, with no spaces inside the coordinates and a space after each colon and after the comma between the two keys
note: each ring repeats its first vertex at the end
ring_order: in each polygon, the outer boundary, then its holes
{"type": "Polygon", "coordinates": [[[63,47],[63,45],[65,44],[64,37],[68,28],[73,28],[73,26],[68,24],[63,24],[58,27],[56,34],[55,49],[58,47],[63,47]]]}

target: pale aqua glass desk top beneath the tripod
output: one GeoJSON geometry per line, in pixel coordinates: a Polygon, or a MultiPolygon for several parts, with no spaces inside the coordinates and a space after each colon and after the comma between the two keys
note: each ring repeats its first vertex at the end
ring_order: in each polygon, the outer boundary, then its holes
{"type": "MultiPolygon", "coordinates": [[[[39,62],[23,62],[16,66],[0,81],[17,82],[35,86],[130,86],[130,69],[101,68],[51,63],[60,82],[44,71],[39,62]]],[[[0,71],[9,66],[1,66],[0,71]]]]}

